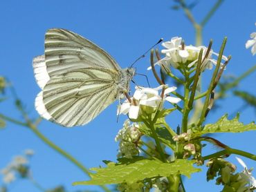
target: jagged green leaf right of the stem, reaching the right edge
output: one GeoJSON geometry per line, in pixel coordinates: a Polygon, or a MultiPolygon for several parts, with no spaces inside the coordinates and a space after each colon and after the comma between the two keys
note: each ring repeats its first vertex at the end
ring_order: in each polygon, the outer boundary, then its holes
{"type": "Polygon", "coordinates": [[[243,124],[239,122],[239,114],[234,119],[228,120],[228,114],[223,115],[215,124],[206,124],[203,131],[192,133],[192,137],[198,137],[207,133],[241,133],[256,130],[255,122],[243,124]]]}

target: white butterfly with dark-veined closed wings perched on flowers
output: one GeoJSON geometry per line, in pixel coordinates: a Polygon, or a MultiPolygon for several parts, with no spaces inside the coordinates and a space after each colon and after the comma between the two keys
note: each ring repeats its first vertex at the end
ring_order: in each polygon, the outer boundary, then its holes
{"type": "Polygon", "coordinates": [[[122,69],[102,48],[74,32],[46,32],[44,55],[33,59],[42,91],[35,99],[39,115],[63,126],[91,122],[129,92],[134,68],[122,69]]]}

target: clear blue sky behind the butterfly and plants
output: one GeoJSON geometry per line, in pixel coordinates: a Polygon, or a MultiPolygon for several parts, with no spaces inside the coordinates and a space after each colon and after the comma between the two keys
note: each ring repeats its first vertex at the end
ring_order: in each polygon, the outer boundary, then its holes
{"type": "MultiPolygon", "coordinates": [[[[197,21],[210,10],[213,3],[214,1],[199,1],[199,5],[194,8],[197,21]]],[[[33,77],[32,59],[44,53],[44,33],[48,28],[66,28],[77,32],[107,50],[118,64],[125,68],[161,37],[169,40],[171,37],[180,36],[185,39],[186,44],[194,44],[194,29],[182,11],[170,9],[172,5],[173,1],[167,0],[1,1],[0,75],[8,77],[26,105],[30,117],[36,118],[34,100],[39,87],[33,77]]],[[[256,56],[253,57],[244,47],[250,33],[256,31],[255,7],[255,0],[224,1],[203,30],[204,44],[213,39],[213,49],[217,52],[223,37],[228,37],[225,55],[232,55],[232,61],[225,75],[241,75],[255,64],[256,56]]],[[[136,70],[148,75],[154,84],[152,75],[146,70],[148,66],[149,55],[136,64],[136,70]]],[[[209,77],[210,73],[205,73],[205,79],[209,77]]],[[[145,79],[141,77],[136,77],[136,83],[146,86],[145,79]]],[[[239,88],[256,94],[255,74],[242,81],[239,88]]],[[[228,97],[218,104],[218,111],[210,113],[208,122],[216,121],[225,113],[233,113],[244,103],[236,97],[228,97]]],[[[116,123],[116,105],[117,103],[109,106],[86,126],[64,128],[44,121],[39,130],[86,167],[99,166],[102,165],[102,160],[116,160],[118,144],[114,142],[114,137],[126,119],[122,116],[116,123]]],[[[15,111],[12,99],[1,103],[0,113],[21,119],[21,115],[15,111]]],[[[171,124],[179,124],[175,117],[168,120],[171,124]]],[[[242,122],[253,120],[255,111],[252,108],[241,112],[242,122]]],[[[221,134],[217,135],[217,139],[233,148],[256,154],[254,132],[221,134]]],[[[100,190],[96,186],[71,186],[74,181],[88,178],[73,164],[38,140],[27,128],[9,123],[6,129],[0,131],[0,141],[0,168],[9,162],[13,155],[20,154],[26,148],[32,148],[35,150],[35,157],[30,163],[33,177],[45,188],[64,184],[69,191],[100,190]]],[[[210,150],[217,151],[216,148],[210,150]]],[[[230,157],[230,161],[237,163],[234,156],[230,157]]],[[[244,161],[248,167],[255,166],[255,162],[251,160],[244,158],[244,161]]],[[[239,165],[238,170],[241,170],[239,165]]],[[[206,182],[205,170],[192,175],[192,179],[185,180],[185,187],[187,191],[220,189],[214,186],[214,182],[206,182]]],[[[37,191],[27,181],[16,182],[10,189],[12,192],[37,191]]]]}

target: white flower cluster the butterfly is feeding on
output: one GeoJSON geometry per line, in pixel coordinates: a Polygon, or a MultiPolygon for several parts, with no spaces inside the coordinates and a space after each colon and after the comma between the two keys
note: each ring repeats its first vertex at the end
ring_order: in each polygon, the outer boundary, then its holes
{"type": "Polygon", "coordinates": [[[141,86],[136,86],[134,97],[131,97],[131,103],[126,100],[123,104],[121,104],[121,106],[118,107],[118,115],[126,115],[128,113],[130,119],[137,119],[141,106],[149,106],[155,110],[157,107],[161,107],[161,102],[164,102],[165,100],[172,104],[176,104],[181,101],[181,99],[177,97],[167,96],[167,94],[176,90],[176,87],[173,86],[166,88],[163,98],[158,93],[158,90],[161,89],[163,89],[163,86],[158,86],[157,88],[144,88],[141,86]]]}

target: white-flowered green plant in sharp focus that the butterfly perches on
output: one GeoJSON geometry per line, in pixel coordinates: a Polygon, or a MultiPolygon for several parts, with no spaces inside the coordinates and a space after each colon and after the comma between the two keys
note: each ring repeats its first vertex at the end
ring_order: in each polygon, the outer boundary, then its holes
{"type": "Polygon", "coordinates": [[[232,154],[251,159],[255,157],[219,142],[214,139],[214,133],[253,131],[256,130],[255,124],[241,124],[239,115],[231,120],[224,115],[214,124],[205,124],[213,106],[214,89],[231,59],[223,55],[226,40],[216,53],[211,48],[212,41],[208,47],[185,46],[181,37],[174,37],[162,44],[166,48],[161,50],[165,55],[163,59],[156,50],[156,62],[152,50],[148,69],[152,70],[160,86],[136,86],[134,95],[127,96],[125,102],[118,106],[118,115],[124,114],[129,118],[116,136],[119,142],[118,162],[106,162],[105,168],[93,168],[96,173],[91,173],[91,180],[74,184],[118,184],[120,191],[149,191],[152,188],[155,191],[185,191],[181,175],[190,177],[192,173],[201,171],[193,165],[202,166],[208,160],[207,179],[213,180],[218,174],[217,184],[223,185],[223,191],[253,190],[255,179],[242,161],[239,160],[245,171],[234,174],[235,166],[224,157],[232,154]],[[161,77],[156,72],[156,65],[161,66],[161,77]],[[200,93],[198,87],[205,69],[212,69],[213,73],[208,89],[200,93]],[[174,75],[174,70],[181,75],[174,75]],[[166,76],[178,81],[183,91],[165,84],[166,76]],[[194,102],[202,98],[201,114],[189,122],[194,102]],[[165,104],[165,101],[170,104],[165,104]],[[181,127],[172,128],[166,122],[174,111],[181,114],[181,127]],[[209,133],[211,137],[206,136],[209,133]],[[203,156],[203,142],[210,142],[222,151],[203,156]]]}

